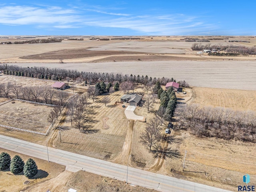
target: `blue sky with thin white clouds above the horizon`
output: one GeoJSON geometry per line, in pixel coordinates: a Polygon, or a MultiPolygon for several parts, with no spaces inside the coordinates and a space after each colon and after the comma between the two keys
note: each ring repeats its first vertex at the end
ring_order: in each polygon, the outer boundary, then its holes
{"type": "Polygon", "coordinates": [[[254,0],[2,0],[0,35],[256,35],[254,0]]]}

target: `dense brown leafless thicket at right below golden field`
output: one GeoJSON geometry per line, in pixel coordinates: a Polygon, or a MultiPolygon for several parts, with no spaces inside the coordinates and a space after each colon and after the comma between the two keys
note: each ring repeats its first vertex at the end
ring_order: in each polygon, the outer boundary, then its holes
{"type": "Polygon", "coordinates": [[[180,124],[199,137],[242,140],[256,143],[256,113],[234,111],[222,107],[202,107],[197,104],[176,109],[180,124]]]}

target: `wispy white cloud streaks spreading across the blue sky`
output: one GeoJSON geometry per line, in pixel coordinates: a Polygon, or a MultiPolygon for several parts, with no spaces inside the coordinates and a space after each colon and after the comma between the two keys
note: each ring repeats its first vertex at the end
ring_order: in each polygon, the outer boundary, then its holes
{"type": "Polygon", "coordinates": [[[124,28],[138,34],[177,35],[216,29],[203,21],[203,16],[185,14],[135,15],[92,8],[62,8],[56,6],[2,6],[0,24],[30,25],[46,29],[79,28],[85,26],[124,28]]]}

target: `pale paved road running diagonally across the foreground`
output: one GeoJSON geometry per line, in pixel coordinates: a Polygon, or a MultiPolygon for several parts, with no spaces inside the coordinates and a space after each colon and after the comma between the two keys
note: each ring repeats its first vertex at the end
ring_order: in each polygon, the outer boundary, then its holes
{"type": "MultiPolygon", "coordinates": [[[[17,153],[48,160],[46,146],[0,135],[0,148],[17,153]]],[[[48,147],[50,162],[66,165],[72,169],[84,170],[94,174],[153,188],[163,192],[228,192],[219,188],[206,186],[186,180],[180,180],[144,170],[131,168],[63,150],[48,147]],[[127,174],[128,172],[128,174],[127,174]]]]}

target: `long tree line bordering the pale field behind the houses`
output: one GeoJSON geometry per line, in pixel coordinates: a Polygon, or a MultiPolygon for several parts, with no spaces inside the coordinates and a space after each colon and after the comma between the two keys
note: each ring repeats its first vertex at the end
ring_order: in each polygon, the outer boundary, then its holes
{"type": "Polygon", "coordinates": [[[4,74],[15,75],[15,76],[25,76],[40,79],[50,79],[50,80],[63,80],[72,79],[78,82],[85,82],[85,84],[96,84],[97,82],[132,82],[137,84],[146,84],[152,82],[155,84],[156,81],[160,81],[161,85],[165,85],[167,82],[174,81],[173,78],[152,78],[147,75],[123,75],[118,73],[96,73],[96,72],[79,72],[77,70],[66,70],[59,68],[46,68],[46,67],[21,67],[16,65],[0,65],[0,70],[4,71],[4,74]]]}

